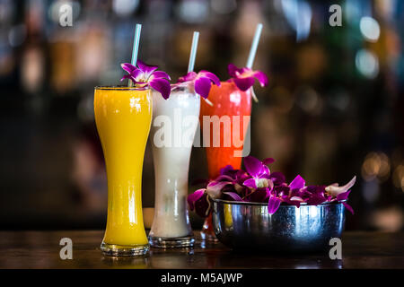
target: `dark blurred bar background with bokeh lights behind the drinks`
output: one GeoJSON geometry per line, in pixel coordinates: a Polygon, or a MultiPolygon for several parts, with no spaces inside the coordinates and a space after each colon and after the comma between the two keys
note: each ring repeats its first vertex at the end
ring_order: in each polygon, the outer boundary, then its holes
{"type": "MultiPolygon", "coordinates": [[[[0,0],[0,229],[103,229],[106,176],[93,87],[119,84],[136,22],[139,57],[171,78],[185,74],[193,30],[196,69],[222,80],[245,65],[264,24],[254,68],[251,154],[309,184],[344,184],[347,230],[404,227],[404,2],[399,0],[0,0]],[[73,26],[59,25],[59,7],[73,26]],[[329,6],[342,26],[329,25],[329,6]]],[[[189,180],[206,178],[203,149],[189,180]]],[[[190,187],[190,191],[192,187],[190,187]]],[[[145,207],[154,205],[150,144],[145,207]]],[[[200,221],[192,216],[194,226],[200,221]]]]}

